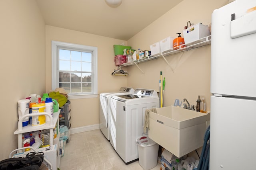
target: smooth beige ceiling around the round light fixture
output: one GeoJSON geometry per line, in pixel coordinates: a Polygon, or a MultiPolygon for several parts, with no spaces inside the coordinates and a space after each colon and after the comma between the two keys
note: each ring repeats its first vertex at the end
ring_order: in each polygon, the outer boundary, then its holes
{"type": "Polygon", "coordinates": [[[46,25],[128,40],[182,0],[36,0],[46,25]]]}

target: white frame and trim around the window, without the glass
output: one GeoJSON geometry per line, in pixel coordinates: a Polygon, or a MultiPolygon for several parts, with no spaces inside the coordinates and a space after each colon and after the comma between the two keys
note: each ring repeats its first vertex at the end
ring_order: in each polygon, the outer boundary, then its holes
{"type": "Polygon", "coordinates": [[[59,87],[59,58],[58,48],[69,48],[78,51],[92,51],[92,93],[68,94],[68,99],[97,98],[98,97],[98,47],[52,41],[52,90],[59,87]]]}

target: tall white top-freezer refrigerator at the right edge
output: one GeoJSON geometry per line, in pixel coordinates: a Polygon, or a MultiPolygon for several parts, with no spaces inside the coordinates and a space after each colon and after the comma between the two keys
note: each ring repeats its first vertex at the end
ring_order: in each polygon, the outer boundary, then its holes
{"type": "Polygon", "coordinates": [[[256,170],[256,0],[212,13],[210,170],[256,170]]]}

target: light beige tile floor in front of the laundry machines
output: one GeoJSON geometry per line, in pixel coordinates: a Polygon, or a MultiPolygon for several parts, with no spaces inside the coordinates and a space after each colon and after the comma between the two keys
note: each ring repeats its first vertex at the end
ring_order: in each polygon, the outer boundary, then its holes
{"type": "MultiPolygon", "coordinates": [[[[143,170],[139,161],[125,164],[100,129],[71,135],[60,170],[143,170]]],[[[152,170],[160,170],[160,163],[152,170]]]]}

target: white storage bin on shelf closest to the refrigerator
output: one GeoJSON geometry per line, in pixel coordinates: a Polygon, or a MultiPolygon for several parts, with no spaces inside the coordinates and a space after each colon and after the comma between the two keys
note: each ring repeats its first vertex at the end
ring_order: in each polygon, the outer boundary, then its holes
{"type": "Polygon", "coordinates": [[[211,35],[210,28],[207,25],[198,23],[183,30],[183,37],[185,44],[196,41],[198,39],[204,38],[211,35]]]}

